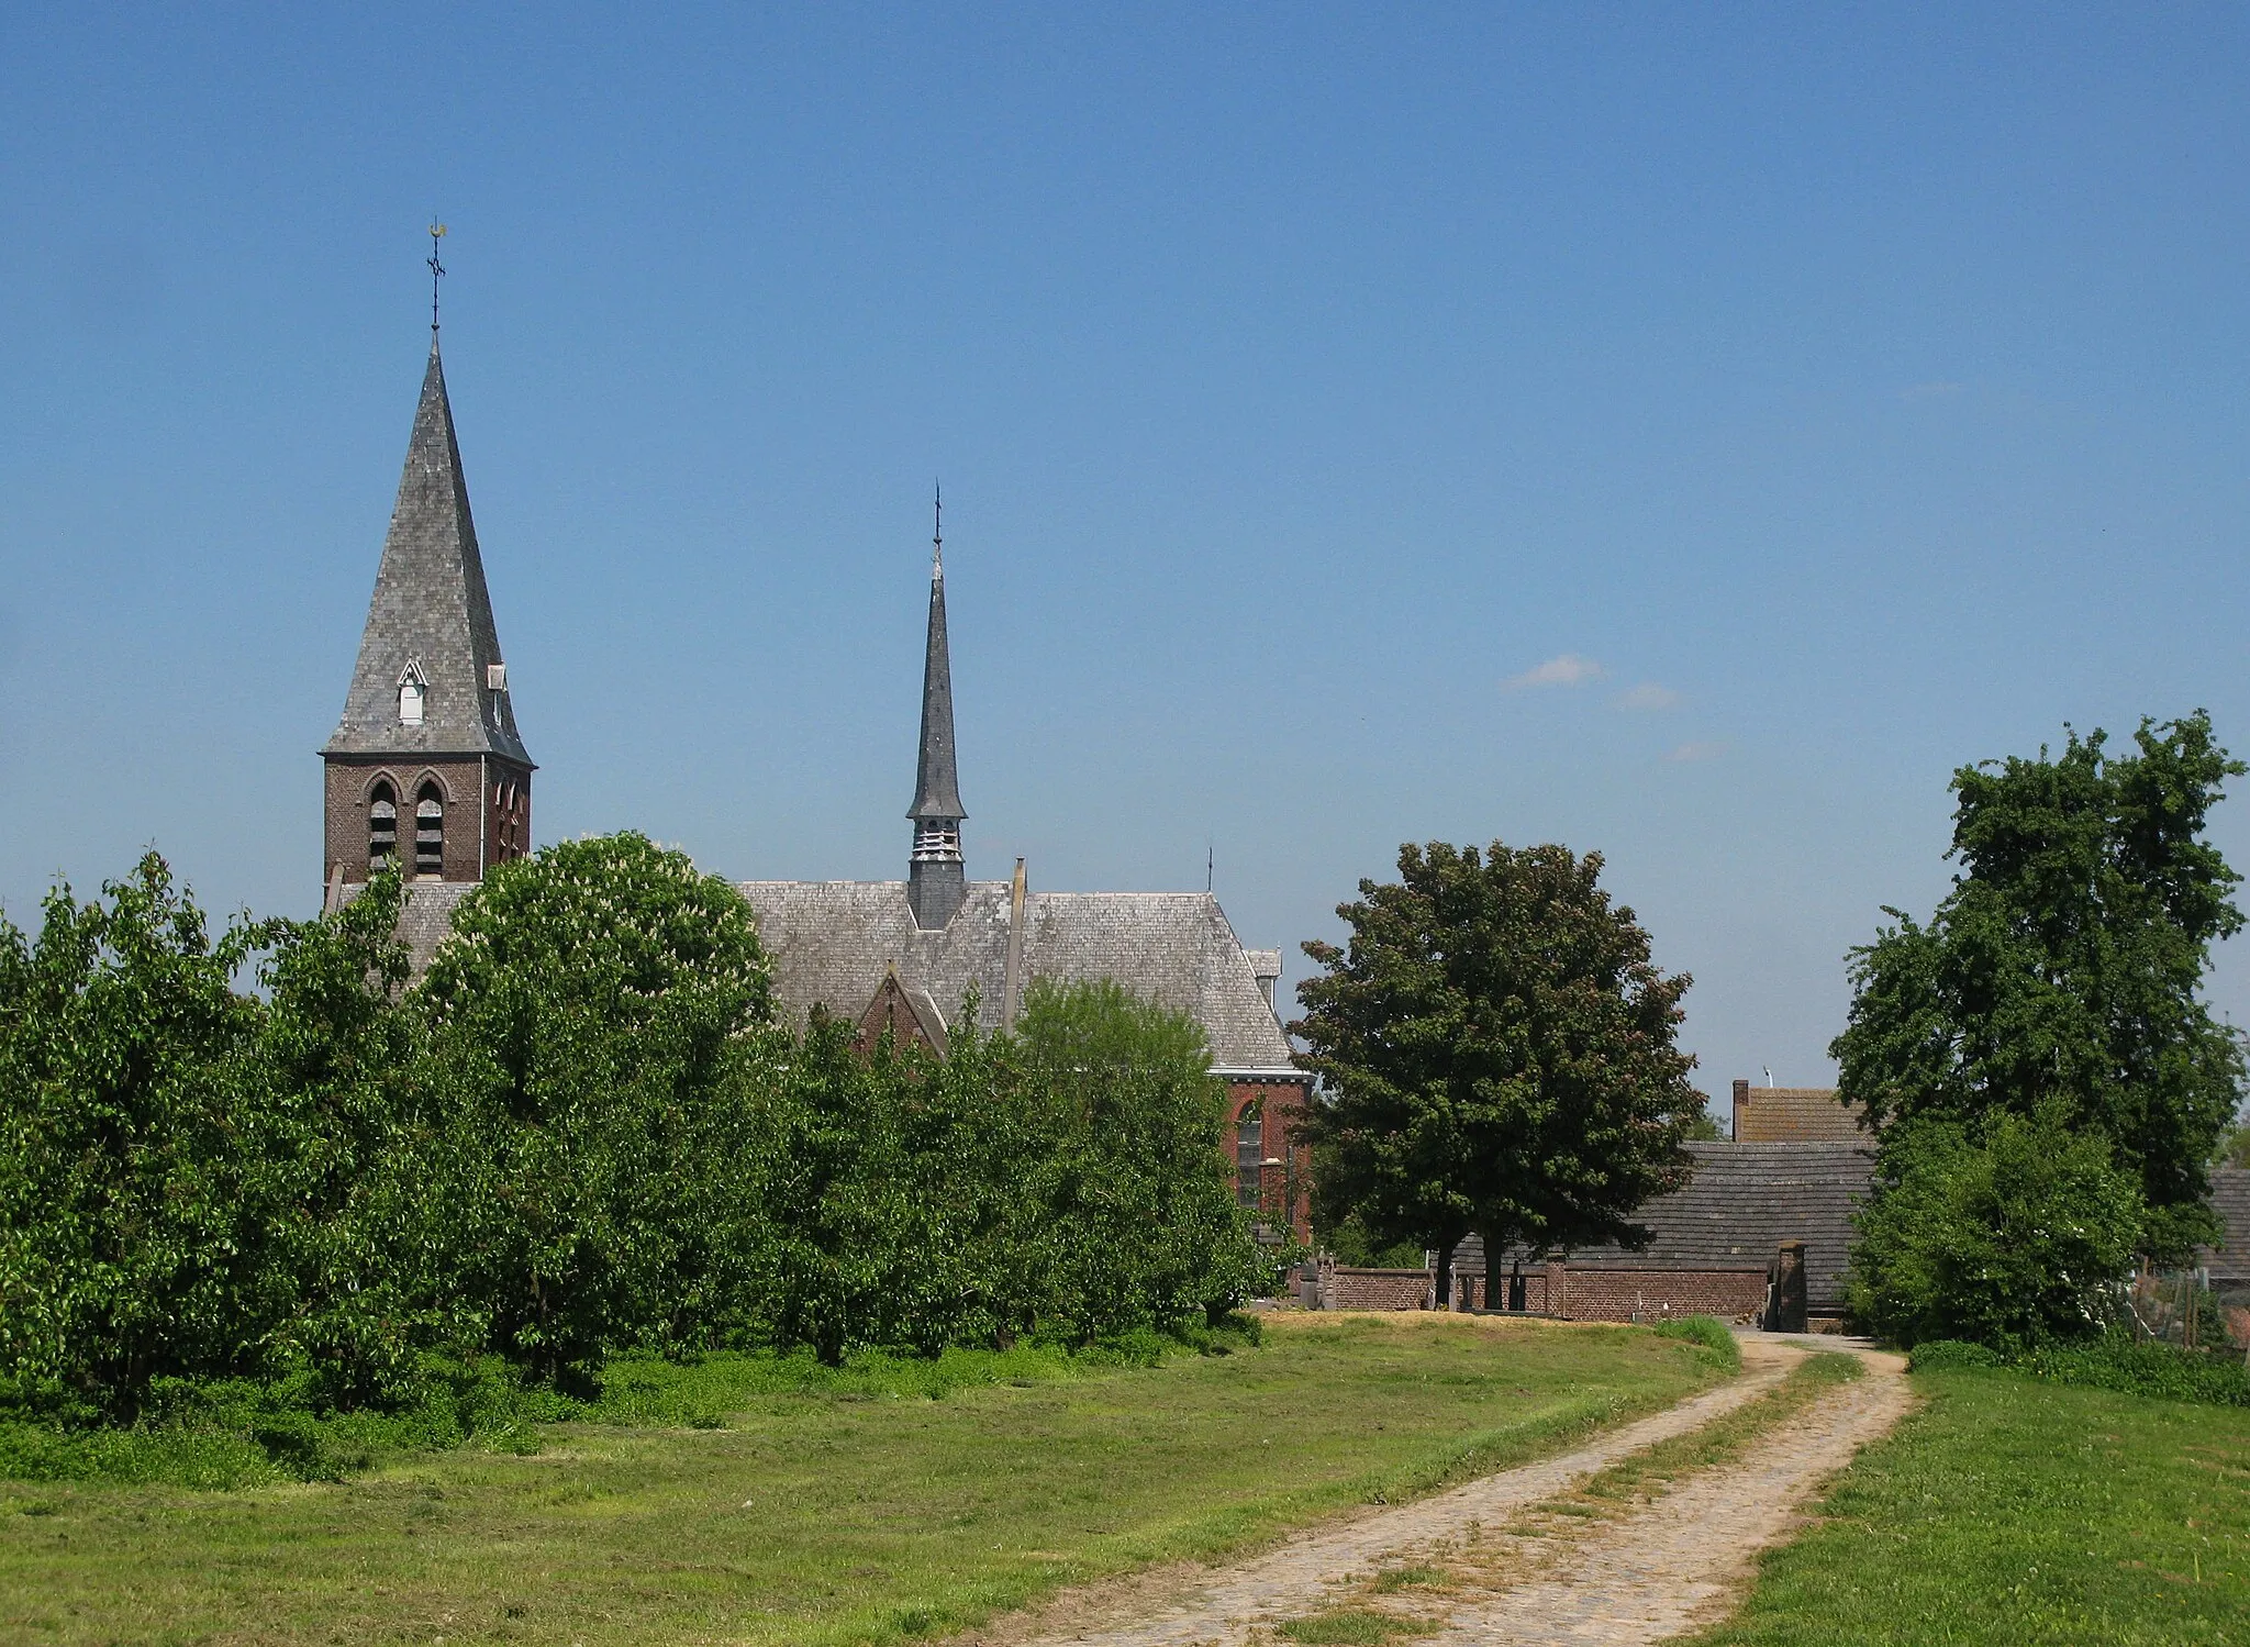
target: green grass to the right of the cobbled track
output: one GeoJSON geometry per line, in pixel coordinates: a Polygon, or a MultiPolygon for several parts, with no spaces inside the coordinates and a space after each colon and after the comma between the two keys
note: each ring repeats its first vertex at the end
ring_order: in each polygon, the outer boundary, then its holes
{"type": "Polygon", "coordinates": [[[2250,1642],[2250,1411],[1917,1372],[1706,1647],[2250,1642]]]}

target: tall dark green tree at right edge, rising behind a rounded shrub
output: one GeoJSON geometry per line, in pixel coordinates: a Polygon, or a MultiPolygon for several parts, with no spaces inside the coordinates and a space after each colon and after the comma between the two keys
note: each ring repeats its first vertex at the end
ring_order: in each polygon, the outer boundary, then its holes
{"type": "Polygon", "coordinates": [[[1953,774],[1953,891],[1852,952],[1829,1051],[1876,1125],[2007,1112],[2099,1134],[2140,1184],[2144,1249],[2180,1258],[2216,1238],[2210,1161],[2243,1100],[2241,1042],[2198,999],[2243,922],[2205,839],[2243,765],[2203,711],[2133,742],[2068,731],[2061,756],[1953,774]]]}

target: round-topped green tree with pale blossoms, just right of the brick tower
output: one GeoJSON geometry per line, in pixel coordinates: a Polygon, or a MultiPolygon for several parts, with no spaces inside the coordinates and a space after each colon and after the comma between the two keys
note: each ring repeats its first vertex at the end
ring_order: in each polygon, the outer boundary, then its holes
{"type": "Polygon", "coordinates": [[[772,990],[742,896],[605,835],[500,864],[416,988],[436,1285],[547,1375],[709,1341],[756,1269],[742,1058],[772,990]]]}

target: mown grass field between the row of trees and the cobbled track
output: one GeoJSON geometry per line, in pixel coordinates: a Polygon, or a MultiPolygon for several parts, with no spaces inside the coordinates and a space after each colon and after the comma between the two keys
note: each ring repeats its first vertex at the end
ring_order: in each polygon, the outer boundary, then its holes
{"type": "Polygon", "coordinates": [[[335,1485],[0,1483],[0,1642],[860,1642],[1537,1456],[1717,1377],[1627,1328],[1280,1316],[945,1400],[767,1390],[335,1485]],[[711,1422],[704,1415],[702,1422],[711,1422]]]}

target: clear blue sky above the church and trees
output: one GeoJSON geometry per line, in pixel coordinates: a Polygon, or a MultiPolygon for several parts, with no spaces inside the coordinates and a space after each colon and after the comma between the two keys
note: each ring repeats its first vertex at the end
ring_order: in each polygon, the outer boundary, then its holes
{"type": "Polygon", "coordinates": [[[2250,749],[2241,9],[7,38],[18,922],[151,842],[317,907],[432,209],[540,839],[902,873],[936,475],[972,873],[1208,848],[1294,956],[1402,839],[1600,848],[1717,1094],[1829,1076],[1958,763],[2198,704],[2250,749]]]}

